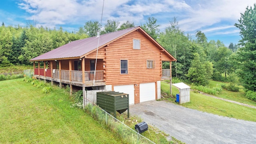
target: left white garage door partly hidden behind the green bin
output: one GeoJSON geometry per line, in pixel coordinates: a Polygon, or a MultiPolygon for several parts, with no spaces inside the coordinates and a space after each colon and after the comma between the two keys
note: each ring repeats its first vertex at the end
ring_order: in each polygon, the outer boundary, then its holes
{"type": "Polygon", "coordinates": [[[129,94],[129,104],[134,104],[134,85],[114,86],[114,91],[129,94]]]}

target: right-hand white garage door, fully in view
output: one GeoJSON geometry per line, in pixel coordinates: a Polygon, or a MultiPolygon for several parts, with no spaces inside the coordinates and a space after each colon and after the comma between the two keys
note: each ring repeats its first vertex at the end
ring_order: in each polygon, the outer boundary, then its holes
{"type": "Polygon", "coordinates": [[[155,83],[140,84],[140,102],[156,100],[155,83]]]}

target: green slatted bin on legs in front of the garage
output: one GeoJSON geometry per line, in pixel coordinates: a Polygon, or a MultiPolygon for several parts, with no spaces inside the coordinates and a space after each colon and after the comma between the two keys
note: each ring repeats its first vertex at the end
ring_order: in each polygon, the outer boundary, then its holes
{"type": "Polygon", "coordinates": [[[114,112],[115,118],[116,111],[122,114],[128,110],[129,118],[129,94],[115,91],[97,92],[97,105],[107,112],[114,112]]]}

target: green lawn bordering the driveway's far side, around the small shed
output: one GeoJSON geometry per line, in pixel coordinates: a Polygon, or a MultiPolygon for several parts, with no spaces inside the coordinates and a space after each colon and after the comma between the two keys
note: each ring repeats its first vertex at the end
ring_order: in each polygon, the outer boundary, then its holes
{"type": "MultiPolygon", "coordinates": [[[[167,92],[170,89],[169,86],[170,84],[161,82],[161,90],[167,92]]],[[[172,94],[177,94],[178,92],[178,89],[172,86],[172,94]]],[[[172,102],[175,101],[175,99],[173,98],[169,98],[168,100],[172,102]]],[[[231,98],[231,100],[233,99],[231,98]]],[[[200,110],[203,112],[218,114],[220,116],[228,116],[232,118],[256,122],[256,109],[233,104],[231,102],[226,102],[223,100],[218,100],[216,98],[204,96],[203,94],[199,94],[196,92],[190,91],[190,102],[182,104],[182,106],[195,110],[200,110]]]]}

